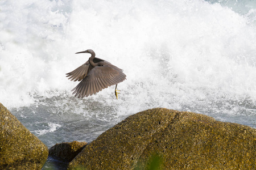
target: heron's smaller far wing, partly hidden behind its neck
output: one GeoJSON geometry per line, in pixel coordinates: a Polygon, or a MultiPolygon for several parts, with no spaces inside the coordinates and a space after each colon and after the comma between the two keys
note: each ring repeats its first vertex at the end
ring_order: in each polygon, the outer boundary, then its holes
{"type": "MultiPolygon", "coordinates": [[[[104,60],[97,57],[93,59],[94,63],[101,62],[101,61],[104,61],[104,60]]],[[[81,81],[92,69],[93,67],[90,65],[89,61],[86,61],[83,65],[81,65],[77,69],[71,71],[70,73],[67,73],[67,77],[69,76],[68,79],[71,79],[71,81],[74,81],[74,82],[76,82],[77,80],[81,81]]]]}

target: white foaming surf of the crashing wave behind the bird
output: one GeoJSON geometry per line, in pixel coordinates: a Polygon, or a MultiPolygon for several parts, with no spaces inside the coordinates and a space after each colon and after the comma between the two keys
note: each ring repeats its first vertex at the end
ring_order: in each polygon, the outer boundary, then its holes
{"type": "MultiPolygon", "coordinates": [[[[71,97],[77,83],[65,73],[88,59],[75,54],[85,49],[127,75],[119,100],[114,87],[88,98],[118,104],[118,115],[153,107],[224,112],[239,105],[232,102],[255,103],[255,9],[238,14],[199,0],[0,6],[0,102],[6,107],[33,104],[38,96],[71,97]]],[[[67,98],[60,102],[68,107],[67,98]]]]}

